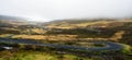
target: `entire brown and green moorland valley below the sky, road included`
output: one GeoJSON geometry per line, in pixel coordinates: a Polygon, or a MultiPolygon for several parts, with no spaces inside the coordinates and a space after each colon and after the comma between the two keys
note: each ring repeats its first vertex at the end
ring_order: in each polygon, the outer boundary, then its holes
{"type": "Polygon", "coordinates": [[[0,53],[2,60],[131,60],[132,20],[80,19],[35,23],[2,16],[0,53]]]}

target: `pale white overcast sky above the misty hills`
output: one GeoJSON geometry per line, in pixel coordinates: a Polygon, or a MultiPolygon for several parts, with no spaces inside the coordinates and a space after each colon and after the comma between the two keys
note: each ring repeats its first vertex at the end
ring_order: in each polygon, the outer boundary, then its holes
{"type": "Polygon", "coordinates": [[[0,14],[51,20],[128,17],[132,0],[0,0],[0,14]]]}

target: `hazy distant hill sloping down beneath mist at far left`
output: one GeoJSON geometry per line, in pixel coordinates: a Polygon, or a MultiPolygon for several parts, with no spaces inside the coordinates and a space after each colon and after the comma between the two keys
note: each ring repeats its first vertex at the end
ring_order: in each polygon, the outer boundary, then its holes
{"type": "Polygon", "coordinates": [[[0,25],[37,25],[38,22],[29,21],[28,17],[0,15],[0,25]]]}

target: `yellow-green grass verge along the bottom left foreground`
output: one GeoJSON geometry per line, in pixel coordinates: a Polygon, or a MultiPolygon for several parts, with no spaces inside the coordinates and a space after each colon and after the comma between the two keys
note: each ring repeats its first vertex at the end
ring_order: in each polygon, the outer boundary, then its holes
{"type": "Polygon", "coordinates": [[[89,60],[88,58],[81,58],[74,55],[57,55],[31,50],[20,51],[0,51],[0,60],[89,60]]]}

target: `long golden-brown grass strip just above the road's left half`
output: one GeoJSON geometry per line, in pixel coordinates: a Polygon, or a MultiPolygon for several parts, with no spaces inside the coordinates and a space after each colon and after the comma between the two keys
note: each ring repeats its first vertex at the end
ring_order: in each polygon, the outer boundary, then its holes
{"type": "Polygon", "coordinates": [[[76,35],[14,35],[12,38],[43,39],[43,40],[73,40],[76,35]]]}

